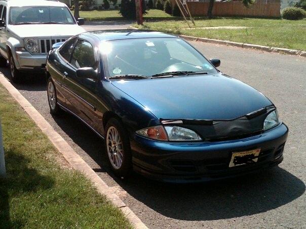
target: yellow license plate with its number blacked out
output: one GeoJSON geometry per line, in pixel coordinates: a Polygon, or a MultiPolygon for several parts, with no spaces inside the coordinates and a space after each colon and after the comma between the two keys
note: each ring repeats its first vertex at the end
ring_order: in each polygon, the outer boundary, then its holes
{"type": "Polygon", "coordinates": [[[232,154],[232,159],[228,167],[254,164],[258,161],[259,153],[260,149],[244,151],[244,152],[234,152],[232,154]]]}

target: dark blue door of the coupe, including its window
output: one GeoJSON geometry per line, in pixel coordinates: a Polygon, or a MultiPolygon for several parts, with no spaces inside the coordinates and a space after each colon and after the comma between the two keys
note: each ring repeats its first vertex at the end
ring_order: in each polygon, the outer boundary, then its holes
{"type": "Polygon", "coordinates": [[[97,82],[93,79],[78,78],[76,72],[84,67],[98,68],[97,63],[98,57],[95,55],[93,45],[79,38],[74,46],[70,62],[65,66],[62,80],[67,108],[94,129],[98,121],[95,96],[97,82]]]}

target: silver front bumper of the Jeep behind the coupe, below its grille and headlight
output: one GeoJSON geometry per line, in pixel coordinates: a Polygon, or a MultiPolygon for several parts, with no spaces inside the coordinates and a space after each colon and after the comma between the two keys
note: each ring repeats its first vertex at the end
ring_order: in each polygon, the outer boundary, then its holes
{"type": "Polygon", "coordinates": [[[15,65],[18,70],[45,70],[47,54],[32,55],[29,52],[16,52],[15,65]]]}

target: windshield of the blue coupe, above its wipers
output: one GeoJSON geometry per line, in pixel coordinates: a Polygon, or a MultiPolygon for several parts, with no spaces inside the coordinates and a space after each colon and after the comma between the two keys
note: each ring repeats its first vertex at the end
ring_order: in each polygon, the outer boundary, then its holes
{"type": "MultiPolygon", "coordinates": [[[[217,70],[197,50],[180,38],[140,38],[103,41],[108,77],[158,76],[171,72],[216,73],[217,70]]],[[[118,78],[118,77],[117,77],[118,78]]]]}

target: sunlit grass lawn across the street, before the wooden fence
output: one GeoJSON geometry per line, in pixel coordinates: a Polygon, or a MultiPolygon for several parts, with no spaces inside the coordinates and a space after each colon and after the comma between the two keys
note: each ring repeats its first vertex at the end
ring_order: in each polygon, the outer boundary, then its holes
{"type": "MultiPolygon", "coordinates": [[[[196,27],[245,26],[246,29],[187,29],[182,20],[145,22],[142,29],[159,30],[174,34],[260,44],[270,47],[306,51],[306,19],[216,18],[197,19],[196,27]]],[[[138,27],[136,24],[133,25],[138,27]]]]}

